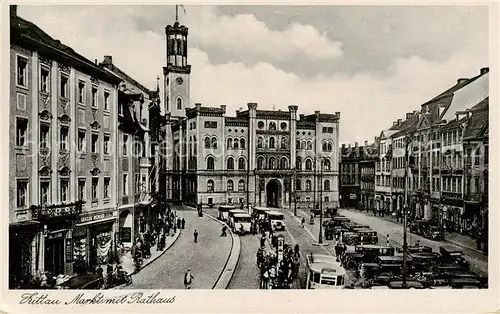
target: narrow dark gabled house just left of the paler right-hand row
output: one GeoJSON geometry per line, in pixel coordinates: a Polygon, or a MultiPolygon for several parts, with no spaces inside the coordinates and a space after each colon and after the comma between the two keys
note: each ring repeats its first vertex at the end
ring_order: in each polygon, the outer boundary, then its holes
{"type": "Polygon", "coordinates": [[[378,147],[378,137],[370,145],[365,141],[363,156],[359,161],[361,204],[367,211],[375,209],[375,163],[379,158],[378,147]]]}

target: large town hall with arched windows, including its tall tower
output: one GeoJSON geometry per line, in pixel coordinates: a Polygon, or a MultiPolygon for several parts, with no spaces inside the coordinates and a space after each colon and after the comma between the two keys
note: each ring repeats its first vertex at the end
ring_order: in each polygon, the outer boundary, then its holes
{"type": "Polygon", "coordinates": [[[193,104],[188,28],[175,22],[165,32],[164,144],[172,156],[162,170],[166,198],[209,206],[282,207],[296,201],[312,208],[320,200],[338,206],[340,113],[298,115],[295,105],[271,111],[248,103],[248,110],[230,117],[224,105],[193,104]]]}

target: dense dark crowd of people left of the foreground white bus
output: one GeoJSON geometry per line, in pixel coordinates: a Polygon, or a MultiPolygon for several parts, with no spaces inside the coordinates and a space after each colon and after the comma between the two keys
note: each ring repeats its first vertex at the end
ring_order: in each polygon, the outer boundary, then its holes
{"type": "Polygon", "coordinates": [[[292,247],[284,244],[281,258],[278,256],[277,241],[271,241],[271,250],[266,251],[264,245],[257,251],[257,266],[260,268],[260,289],[292,289],[298,278],[300,267],[299,245],[292,247]]]}

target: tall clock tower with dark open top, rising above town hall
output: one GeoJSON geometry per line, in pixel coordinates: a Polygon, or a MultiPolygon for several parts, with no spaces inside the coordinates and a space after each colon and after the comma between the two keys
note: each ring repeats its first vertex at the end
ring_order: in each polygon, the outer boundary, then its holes
{"type": "Polygon", "coordinates": [[[189,81],[191,65],[187,64],[188,28],[180,25],[177,17],[174,25],[165,27],[167,66],[163,67],[165,113],[182,118],[190,108],[189,81]]]}

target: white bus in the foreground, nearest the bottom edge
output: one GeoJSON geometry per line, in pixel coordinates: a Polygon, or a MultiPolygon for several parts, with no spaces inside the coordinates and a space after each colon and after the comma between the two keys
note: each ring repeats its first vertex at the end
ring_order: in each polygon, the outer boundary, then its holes
{"type": "Polygon", "coordinates": [[[343,289],[346,271],[331,255],[306,256],[306,289],[343,289]]]}

